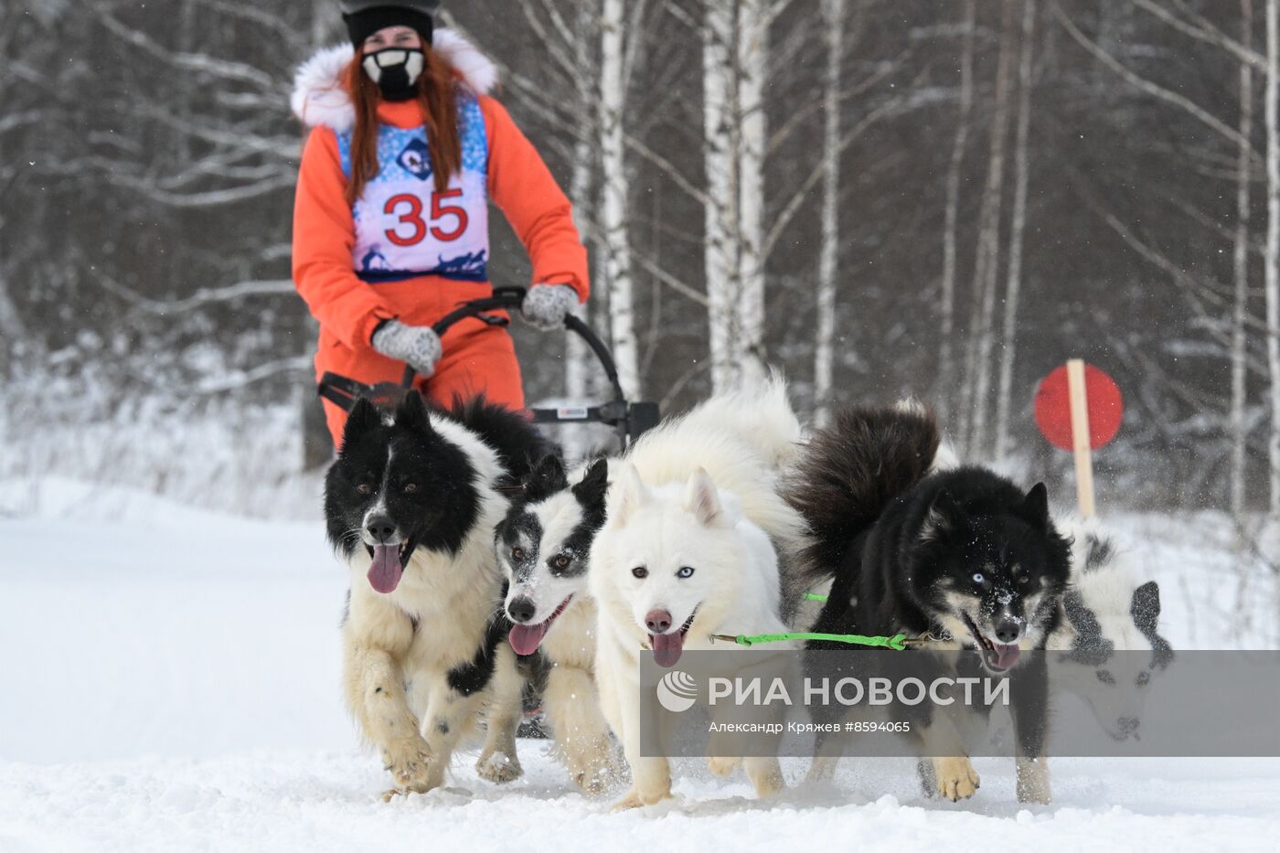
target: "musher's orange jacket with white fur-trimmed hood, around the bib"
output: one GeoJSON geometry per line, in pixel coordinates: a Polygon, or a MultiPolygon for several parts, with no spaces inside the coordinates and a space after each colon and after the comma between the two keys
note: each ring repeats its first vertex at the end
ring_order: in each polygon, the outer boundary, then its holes
{"type": "MultiPolygon", "coordinates": [[[[440,42],[457,51],[461,40],[445,36],[440,42]]],[[[468,55],[449,55],[463,69],[463,79],[474,90],[477,53],[461,42],[468,55]],[[470,63],[470,65],[468,65],[470,63]]],[[[448,55],[448,53],[447,53],[448,55]]],[[[344,199],[347,178],[342,170],[335,128],[351,120],[349,99],[340,91],[338,72],[351,56],[349,49],[332,49],[317,55],[298,74],[294,111],[312,126],[302,154],[293,214],[293,280],[311,314],[321,325],[324,338],[337,339],[355,351],[367,351],[379,321],[401,319],[411,324],[430,324],[447,313],[460,293],[457,282],[434,275],[393,284],[370,284],[357,277],[352,250],[356,228],[352,209],[344,199]],[[321,68],[316,68],[320,65],[321,68]],[[308,77],[310,74],[310,77],[308,77]],[[328,78],[328,79],[326,79],[328,78]],[[317,79],[321,82],[316,86],[317,79]],[[342,101],[346,100],[346,110],[342,101]],[[448,300],[442,298],[449,295],[448,300]],[[438,296],[436,296],[438,295],[438,296]]],[[[481,58],[483,60],[483,58],[481,58]]],[[[483,60],[486,61],[486,60],[483,60]]],[[[585,301],[589,295],[586,248],[573,224],[572,207],[543,163],[532,143],[521,133],[507,110],[486,95],[479,95],[489,142],[489,199],[507,216],[532,261],[532,282],[568,284],[585,301]]],[[[384,102],[379,119],[401,128],[422,124],[416,101],[384,102]]],[[[484,286],[488,291],[488,286],[484,286]]],[[[484,296],[474,286],[466,296],[484,296]]],[[[324,352],[317,369],[324,368],[324,352]]]]}

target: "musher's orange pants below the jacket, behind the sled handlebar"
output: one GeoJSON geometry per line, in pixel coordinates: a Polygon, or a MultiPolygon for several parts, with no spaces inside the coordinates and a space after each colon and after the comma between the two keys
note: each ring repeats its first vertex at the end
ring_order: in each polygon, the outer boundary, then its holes
{"type": "MultiPolygon", "coordinates": [[[[430,379],[419,377],[413,383],[429,400],[448,406],[457,396],[470,400],[483,393],[490,402],[508,409],[518,411],[525,407],[516,346],[504,327],[475,319],[462,320],[444,333],[440,345],[444,355],[435,365],[435,374],[430,379]]],[[[371,348],[352,352],[321,332],[316,378],[328,370],[370,386],[379,382],[398,384],[404,374],[404,362],[371,348]]],[[[334,447],[338,447],[347,412],[328,400],[324,401],[324,410],[334,447]]]]}

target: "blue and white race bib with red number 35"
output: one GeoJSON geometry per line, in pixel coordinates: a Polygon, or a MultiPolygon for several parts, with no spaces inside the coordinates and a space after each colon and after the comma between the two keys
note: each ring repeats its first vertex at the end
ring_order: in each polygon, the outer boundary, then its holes
{"type": "MultiPolygon", "coordinates": [[[[438,192],[426,128],[379,126],[379,173],[352,207],[352,266],[366,282],[417,275],[484,282],[489,265],[489,140],[480,104],[460,95],[462,173],[438,192]]],[[[342,170],[351,178],[351,133],[338,136],[342,170]]]]}

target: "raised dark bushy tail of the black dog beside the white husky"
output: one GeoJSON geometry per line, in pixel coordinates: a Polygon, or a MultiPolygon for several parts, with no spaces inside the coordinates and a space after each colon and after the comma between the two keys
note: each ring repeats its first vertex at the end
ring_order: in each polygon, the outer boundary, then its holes
{"type": "Polygon", "coordinates": [[[788,585],[812,588],[835,576],[854,538],[928,474],[940,443],[933,412],[919,405],[837,411],[787,479],[786,498],[812,532],[788,585]]]}

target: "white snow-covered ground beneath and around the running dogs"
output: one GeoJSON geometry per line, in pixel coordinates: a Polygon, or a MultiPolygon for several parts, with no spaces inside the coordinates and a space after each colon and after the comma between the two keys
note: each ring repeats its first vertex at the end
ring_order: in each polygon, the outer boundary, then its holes
{"type": "MultiPolygon", "coordinates": [[[[1276,646],[1276,579],[1211,515],[1123,516],[1181,648],[1276,646]],[[1243,603],[1243,607],[1242,607],[1243,603]]],[[[541,742],[526,775],[383,803],[338,695],[343,573],[319,523],[142,493],[0,482],[0,850],[1275,849],[1280,760],[1055,760],[1025,808],[1010,762],[978,795],[923,799],[911,762],[846,762],[756,803],[678,765],[634,813],[577,794],[541,742]]],[[[804,761],[786,763],[792,783],[804,761]]]]}

